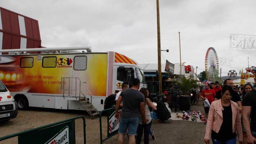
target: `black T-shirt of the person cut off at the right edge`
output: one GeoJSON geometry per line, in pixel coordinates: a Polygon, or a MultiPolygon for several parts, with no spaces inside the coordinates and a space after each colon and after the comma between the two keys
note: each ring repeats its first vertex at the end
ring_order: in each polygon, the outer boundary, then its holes
{"type": "Polygon", "coordinates": [[[249,91],[245,96],[243,96],[243,106],[251,106],[251,131],[256,131],[256,90],[253,89],[249,91]]]}

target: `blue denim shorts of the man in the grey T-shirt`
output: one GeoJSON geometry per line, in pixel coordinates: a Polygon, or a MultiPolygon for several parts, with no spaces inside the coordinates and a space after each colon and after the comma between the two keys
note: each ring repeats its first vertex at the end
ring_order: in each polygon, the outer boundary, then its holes
{"type": "Polygon", "coordinates": [[[136,135],[136,130],[139,124],[139,118],[120,118],[119,134],[126,134],[128,128],[129,135],[136,135]]]}

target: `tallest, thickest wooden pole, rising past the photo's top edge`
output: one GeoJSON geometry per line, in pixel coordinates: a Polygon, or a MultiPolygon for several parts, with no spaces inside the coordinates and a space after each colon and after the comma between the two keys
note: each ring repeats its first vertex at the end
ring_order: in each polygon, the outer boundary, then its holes
{"type": "Polygon", "coordinates": [[[159,94],[162,94],[162,70],[161,70],[161,44],[160,44],[160,20],[159,20],[159,0],[157,0],[157,53],[158,53],[158,80],[159,94]]]}

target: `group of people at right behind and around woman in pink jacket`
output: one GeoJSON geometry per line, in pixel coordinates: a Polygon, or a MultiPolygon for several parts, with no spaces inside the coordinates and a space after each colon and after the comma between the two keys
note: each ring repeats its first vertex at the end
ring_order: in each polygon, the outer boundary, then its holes
{"type": "Polygon", "coordinates": [[[226,79],[223,86],[207,83],[200,97],[210,103],[205,106],[205,143],[211,138],[213,144],[236,144],[237,137],[240,144],[256,143],[256,88],[226,79]]]}

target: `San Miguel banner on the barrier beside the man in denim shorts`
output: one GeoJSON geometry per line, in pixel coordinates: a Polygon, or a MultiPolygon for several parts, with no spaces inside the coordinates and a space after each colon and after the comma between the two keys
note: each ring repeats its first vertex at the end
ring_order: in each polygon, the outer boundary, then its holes
{"type": "Polygon", "coordinates": [[[118,113],[119,113],[118,119],[115,118],[115,109],[109,110],[107,112],[108,137],[113,136],[118,133],[121,111],[122,111],[122,109],[120,109],[118,111],[118,113]]]}

